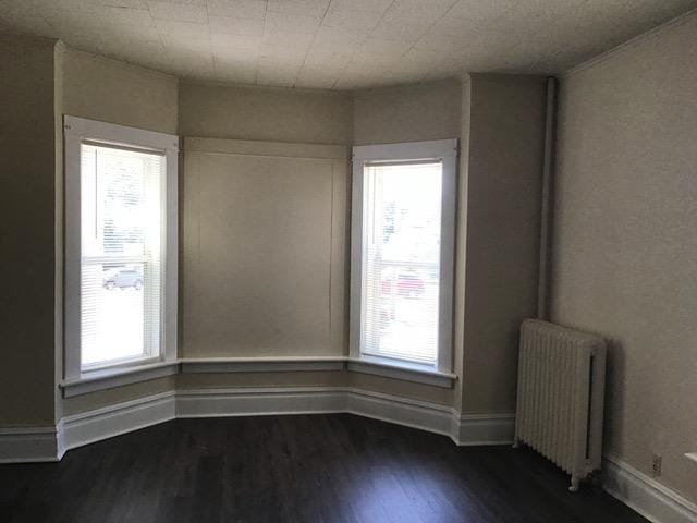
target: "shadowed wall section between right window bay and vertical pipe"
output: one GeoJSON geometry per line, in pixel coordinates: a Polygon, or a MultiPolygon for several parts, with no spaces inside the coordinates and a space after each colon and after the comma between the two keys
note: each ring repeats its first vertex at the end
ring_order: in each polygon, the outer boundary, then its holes
{"type": "Polygon", "coordinates": [[[518,328],[537,306],[546,78],[473,74],[467,94],[462,410],[513,412],[518,328]]]}

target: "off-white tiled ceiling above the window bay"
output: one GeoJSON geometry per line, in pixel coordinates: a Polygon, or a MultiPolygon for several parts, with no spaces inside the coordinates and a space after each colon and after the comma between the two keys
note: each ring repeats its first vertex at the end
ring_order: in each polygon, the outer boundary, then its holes
{"type": "Polygon", "coordinates": [[[181,77],[355,89],[555,73],[697,0],[0,0],[0,33],[181,77]]]}

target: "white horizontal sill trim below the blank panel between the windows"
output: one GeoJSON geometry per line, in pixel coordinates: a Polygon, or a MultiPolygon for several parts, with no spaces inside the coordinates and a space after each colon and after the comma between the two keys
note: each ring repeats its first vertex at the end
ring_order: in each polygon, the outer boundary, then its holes
{"type": "Polygon", "coordinates": [[[296,370],[342,370],[344,356],[289,357],[186,357],[182,373],[288,373],[296,370]]]}

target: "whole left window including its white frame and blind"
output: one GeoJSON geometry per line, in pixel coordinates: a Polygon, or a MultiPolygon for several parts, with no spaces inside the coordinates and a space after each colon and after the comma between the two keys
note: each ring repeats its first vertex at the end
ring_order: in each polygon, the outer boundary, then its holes
{"type": "Polygon", "coordinates": [[[176,354],[176,136],[65,117],[65,378],[176,354]]]}

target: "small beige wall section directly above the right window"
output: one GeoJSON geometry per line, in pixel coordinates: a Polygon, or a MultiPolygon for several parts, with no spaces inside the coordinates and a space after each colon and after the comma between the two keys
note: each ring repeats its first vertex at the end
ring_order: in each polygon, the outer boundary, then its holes
{"type": "Polygon", "coordinates": [[[356,92],[353,143],[456,138],[461,101],[458,80],[356,92]]]}

